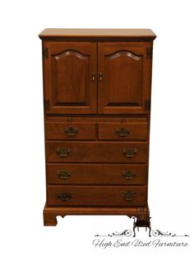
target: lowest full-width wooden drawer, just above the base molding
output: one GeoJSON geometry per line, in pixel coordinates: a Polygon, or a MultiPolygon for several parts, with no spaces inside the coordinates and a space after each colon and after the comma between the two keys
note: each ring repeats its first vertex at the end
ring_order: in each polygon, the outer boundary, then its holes
{"type": "Polygon", "coordinates": [[[50,206],[144,206],[146,187],[48,186],[50,206]]]}

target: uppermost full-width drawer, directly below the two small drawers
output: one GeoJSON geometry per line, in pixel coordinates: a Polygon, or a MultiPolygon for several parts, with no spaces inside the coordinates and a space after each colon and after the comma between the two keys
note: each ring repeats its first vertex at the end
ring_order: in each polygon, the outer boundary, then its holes
{"type": "Polygon", "coordinates": [[[47,142],[48,162],[146,163],[147,144],[128,142],[47,142]]]}

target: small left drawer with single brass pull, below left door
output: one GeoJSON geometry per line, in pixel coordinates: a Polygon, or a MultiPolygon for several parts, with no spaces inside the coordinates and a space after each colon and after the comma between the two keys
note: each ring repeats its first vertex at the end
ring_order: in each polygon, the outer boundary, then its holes
{"type": "Polygon", "coordinates": [[[95,140],[95,123],[47,122],[47,140],[95,140]]]}

